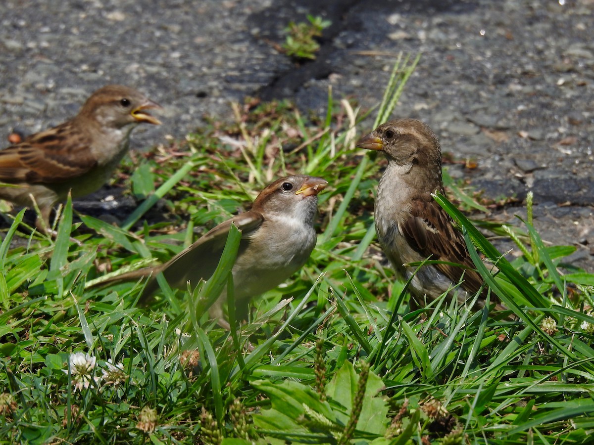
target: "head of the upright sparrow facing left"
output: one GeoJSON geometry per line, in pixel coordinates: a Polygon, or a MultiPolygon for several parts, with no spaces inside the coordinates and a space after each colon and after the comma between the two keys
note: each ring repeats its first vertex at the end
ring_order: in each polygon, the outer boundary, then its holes
{"type": "Polygon", "coordinates": [[[390,120],[359,139],[357,147],[382,151],[388,162],[399,166],[439,171],[441,180],[440,142],[420,120],[390,120]]]}

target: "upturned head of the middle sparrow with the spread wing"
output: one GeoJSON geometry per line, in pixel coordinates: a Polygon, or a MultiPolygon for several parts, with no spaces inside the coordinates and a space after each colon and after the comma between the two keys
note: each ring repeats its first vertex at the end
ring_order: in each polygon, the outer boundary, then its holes
{"type": "Polygon", "coordinates": [[[254,201],[252,209],[259,211],[264,217],[282,215],[296,218],[305,224],[313,224],[318,204],[318,193],[328,181],[320,177],[295,176],[283,177],[266,186],[254,201]]]}

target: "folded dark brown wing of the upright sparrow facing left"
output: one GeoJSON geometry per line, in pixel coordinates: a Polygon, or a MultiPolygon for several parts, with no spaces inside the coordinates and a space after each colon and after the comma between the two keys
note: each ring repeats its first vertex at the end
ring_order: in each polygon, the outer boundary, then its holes
{"type": "Polygon", "coordinates": [[[462,233],[454,228],[449,215],[436,202],[416,201],[410,217],[402,225],[402,232],[422,258],[462,265],[435,265],[452,282],[459,282],[464,274],[462,287],[465,290],[476,293],[481,288],[482,278],[474,270],[462,233]]]}

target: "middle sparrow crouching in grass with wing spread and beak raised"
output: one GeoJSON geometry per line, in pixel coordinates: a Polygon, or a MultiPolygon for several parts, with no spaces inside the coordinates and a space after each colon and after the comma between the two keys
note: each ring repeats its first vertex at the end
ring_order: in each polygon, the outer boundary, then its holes
{"type": "MultiPolygon", "coordinates": [[[[208,279],[216,269],[231,224],[242,232],[239,251],[232,269],[235,299],[247,303],[298,271],[314,250],[314,217],[318,193],[328,182],[319,177],[295,175],[268,185],[254,201],[251,210],[214,227],[187,249],[165,264],[138,269],[103,282],[119,282],[150,276],[140,302],[159,289],[156,275],[163,272],[169,285],[187,289],[200,279],[208,279]]],[[[209,310],[210,317],[229,329],[223,318],[226,291],[209,310]]]]}

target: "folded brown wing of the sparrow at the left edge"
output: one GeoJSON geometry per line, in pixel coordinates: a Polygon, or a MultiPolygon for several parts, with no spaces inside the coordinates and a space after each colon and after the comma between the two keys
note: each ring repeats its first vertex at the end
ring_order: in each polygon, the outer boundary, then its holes
{"type": "Polygon", "coordinates": [[[83,135],[54,128],[0,150],[0,182],[60,183],[81,176],[96,166],[83,135]]]}

